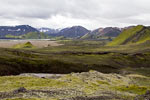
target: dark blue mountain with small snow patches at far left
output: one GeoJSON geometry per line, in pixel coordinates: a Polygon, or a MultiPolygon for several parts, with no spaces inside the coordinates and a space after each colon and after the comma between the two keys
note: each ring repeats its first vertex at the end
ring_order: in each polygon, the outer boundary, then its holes
{"type": "Polygon", "coordinates": [[[0,37],[5,37],[6,35],[19,36],[27,34],[29,32],[39,32],[39,31],[29,25],[0,26],[0,37]]]}

